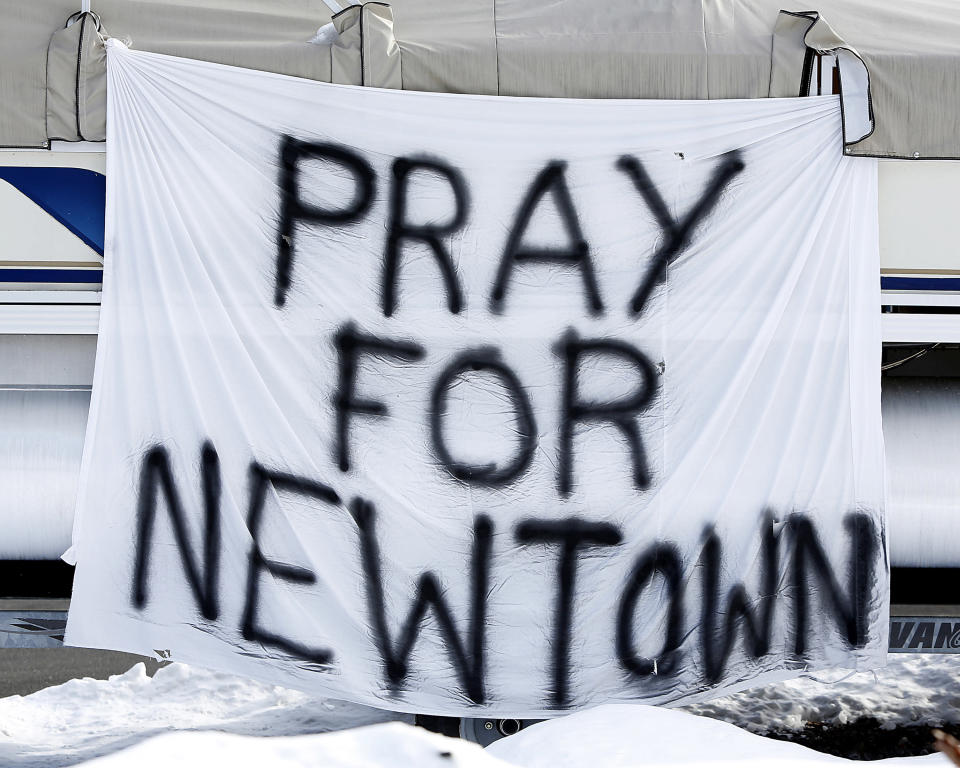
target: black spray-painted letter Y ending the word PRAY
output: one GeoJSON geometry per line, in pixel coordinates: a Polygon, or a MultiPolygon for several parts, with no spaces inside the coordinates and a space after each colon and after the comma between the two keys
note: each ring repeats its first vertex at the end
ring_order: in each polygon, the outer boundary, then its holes
{"type": "Polygon", "coordinates": [[[657,283],[666,278],[667,265],[690,245],[697,225],[710,215],[723,190],[744,167],[739,151],[723,155],[700,199],[678,221],[673,218],[643,163],[631,155],[625,155],[617,161],[617,168],[630,177],[665,235],[663,244],[653,254],[650,266],[630,301],[630,311],[634,315],[643,312],[657,283]]]}

